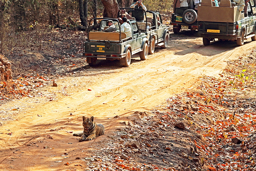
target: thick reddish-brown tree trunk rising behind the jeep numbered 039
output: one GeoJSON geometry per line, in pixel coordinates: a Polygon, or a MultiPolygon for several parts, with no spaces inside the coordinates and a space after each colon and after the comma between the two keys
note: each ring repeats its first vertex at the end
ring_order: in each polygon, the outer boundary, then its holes
{"type": "Polygon", "coordinates": [[[101,2],[104,6],[103,17],[115,18],[119,9],[117,0],[101,0],[101,2]]]}

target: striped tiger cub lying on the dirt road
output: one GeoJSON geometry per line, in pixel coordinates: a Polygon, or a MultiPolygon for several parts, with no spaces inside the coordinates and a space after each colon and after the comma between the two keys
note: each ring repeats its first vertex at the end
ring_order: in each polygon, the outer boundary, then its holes
{"type": "Polygon", "coordinates": [[[81,136],[79,142],[93,140],[104,134],[104,126],[102,124],[97,125],[93,119],[93,116],[90,119],[83,116],[83,132],[73,134],[73,136],[81,136]]]}

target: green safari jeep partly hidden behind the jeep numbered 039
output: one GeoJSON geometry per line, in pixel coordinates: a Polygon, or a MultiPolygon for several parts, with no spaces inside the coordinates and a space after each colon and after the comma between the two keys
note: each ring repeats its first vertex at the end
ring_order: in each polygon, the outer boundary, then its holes
{"type": "MultiPolygon", "coordinates": [[[[126,9],[128,13],[132,16],[134,8],[120,8],[126,9]]],[[[143,9],[136,9],[143,10],[143,9]]],[[[162,22],[162,18],[157,11],[146,11],[144,13],[144,22],[137,22],[138,27],[142,33],[147,35],[148,39],[148,54],[153,54],[155,51],[155,46],[161,48],[167,48],[169,44],[169,30],[165,24],[162,22]],[[157,20],[159,17],[159,21],[157,20]]],[[[135,18],[134,18],[135,19],[135,18]]]]}

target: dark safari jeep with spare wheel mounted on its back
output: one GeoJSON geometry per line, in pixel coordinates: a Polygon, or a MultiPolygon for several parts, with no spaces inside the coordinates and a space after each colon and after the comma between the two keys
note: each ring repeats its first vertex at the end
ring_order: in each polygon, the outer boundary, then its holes
{"type": "Polygon", "coordinates": [[[180,8],[179,0],[173,2],[173,13],[170,25],[173,25],[173,33],[179,33],[180,29],[197,30],[197,10],[193,0],[188,3],[188,9],[180,8]]]}

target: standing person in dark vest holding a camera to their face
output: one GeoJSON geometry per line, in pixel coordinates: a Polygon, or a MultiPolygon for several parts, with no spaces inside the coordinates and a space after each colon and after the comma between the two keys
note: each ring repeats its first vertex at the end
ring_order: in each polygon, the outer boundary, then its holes
{"type": "Polygon", "coordinates": [[[135,18],[136,22],[144,22],[144,11],[147,11],[147,8],[145,5],[143,5],[142,0],[134,0],[134,3],[132,3],[130,8],[134,8],[132,17],[135,18]],[[136,10],[136,9],[143,9],[143,10],[136,10]]]}

